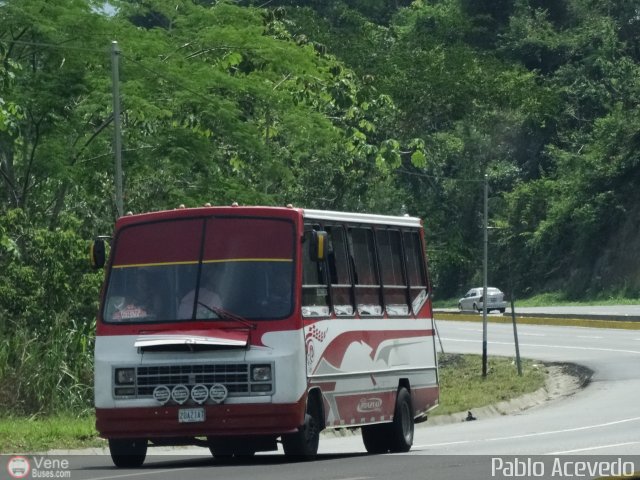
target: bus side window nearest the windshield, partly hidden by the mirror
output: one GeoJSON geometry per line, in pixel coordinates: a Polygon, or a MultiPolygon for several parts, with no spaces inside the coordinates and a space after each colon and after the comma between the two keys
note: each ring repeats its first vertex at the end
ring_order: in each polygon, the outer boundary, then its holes
{"type": "MultiPolygon", "coordinates": [[[[311,231],[304,233],[304,245],[309,245],[311,231]]],[[[325,262],[311,259],[308,248],[302,248],[302,315],[326,317],[329,315],[329,289],[325,262]]]]}

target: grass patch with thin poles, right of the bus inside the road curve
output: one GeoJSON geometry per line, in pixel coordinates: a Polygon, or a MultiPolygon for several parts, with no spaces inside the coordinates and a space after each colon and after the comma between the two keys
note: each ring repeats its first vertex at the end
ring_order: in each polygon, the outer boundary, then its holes
{"type": "Polygon", "coordinates": [[[546,378],[544,366],[531,360],[522,360],[522,377],[510,358],[489,357],[484,378],[481,355],[442,354],[438,363],[440,406],[431,415],[464,412],[535,392],[546,378]]]}

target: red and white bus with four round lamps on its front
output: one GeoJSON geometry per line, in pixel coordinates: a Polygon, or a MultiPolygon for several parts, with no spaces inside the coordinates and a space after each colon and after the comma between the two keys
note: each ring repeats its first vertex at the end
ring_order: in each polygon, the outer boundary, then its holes
{"type": "MultiPolygon", "coordinates": [[[[103,251],[96,240],[95,263],[103,251]]],[[[95,346],[114,463],[184,444],[229,457],[281,442],[310,458],[325,428],[408,451],[439,399],[424,251],[407,216],[234,205],[118,219],[95,346]]]]}

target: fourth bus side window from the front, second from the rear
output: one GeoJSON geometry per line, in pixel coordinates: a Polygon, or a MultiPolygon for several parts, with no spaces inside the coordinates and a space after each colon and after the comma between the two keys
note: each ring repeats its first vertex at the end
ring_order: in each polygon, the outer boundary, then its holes
{"type": "Polygon", "coordinates": [[[409,315],[400,231],[376,230],[376,240],[387,315],[409,315]]]}

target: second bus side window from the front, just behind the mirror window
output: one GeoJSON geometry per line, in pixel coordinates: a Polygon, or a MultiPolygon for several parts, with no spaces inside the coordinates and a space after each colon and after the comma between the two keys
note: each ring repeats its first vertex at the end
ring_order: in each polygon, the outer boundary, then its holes
{"type": "Polygon", "coordinates": [[[328,263],[333,310],[337,316],[353,315],[347,236],[340,226],[327,227],[327,232],[331,245],[328,263]]]}

